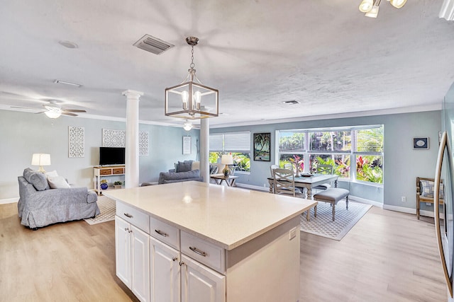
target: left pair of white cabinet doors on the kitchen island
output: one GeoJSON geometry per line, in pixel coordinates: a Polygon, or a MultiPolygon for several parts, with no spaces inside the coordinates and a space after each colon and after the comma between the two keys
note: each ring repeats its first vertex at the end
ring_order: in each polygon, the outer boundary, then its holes
{"type": "Polygon", "coordinates": [[[128,221],[115,217],[116,275],[140,301],[150,301],[149,237],[128,221]]]}

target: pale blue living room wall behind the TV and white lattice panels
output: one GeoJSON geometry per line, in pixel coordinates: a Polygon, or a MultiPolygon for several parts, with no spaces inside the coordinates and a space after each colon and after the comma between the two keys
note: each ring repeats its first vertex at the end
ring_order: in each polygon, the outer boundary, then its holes
{"type": "MultiPolygon", "coordinates": [[[[93,166],[99,164],[102,129],[126,128],[125,122],[93,120],[82,117],[59,117],[0,110],[0,199],[18,197],[17,177],[31,166],[32,153],[50,153],[52,165],[45,170],[57,170],[70,183],[93,188],[93,166]],[[68,127],[84,127],[85,157],[68,157],[68,127]]],[[[148,156],[139,156],[140,182],[157,181],[159,173],[173,168],[176,161],[196,159],[199,130],[190,132],[179,127],[140,124],[148,132],[148,156]],[[182,155],[182,137],[192,137],[191,155],[182,155]]]]}

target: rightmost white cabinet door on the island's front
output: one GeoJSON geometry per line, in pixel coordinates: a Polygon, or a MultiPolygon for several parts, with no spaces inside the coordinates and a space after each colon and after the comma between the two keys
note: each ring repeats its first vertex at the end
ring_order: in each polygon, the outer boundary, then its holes
{"type": "Polygon", "coordinates": [[[182,302],[225,302],[226,277],[182,255],[182,302]]]}

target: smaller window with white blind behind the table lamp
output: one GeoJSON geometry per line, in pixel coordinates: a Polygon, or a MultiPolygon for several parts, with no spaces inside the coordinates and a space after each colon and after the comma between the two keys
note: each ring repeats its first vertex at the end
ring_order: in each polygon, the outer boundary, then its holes
{"type": "Polygon", "coordinates": [[[210,134],[209,162],[218,163],[223,153],[232,153],[236,171],[250,172],[250,132],[210,134]]]}

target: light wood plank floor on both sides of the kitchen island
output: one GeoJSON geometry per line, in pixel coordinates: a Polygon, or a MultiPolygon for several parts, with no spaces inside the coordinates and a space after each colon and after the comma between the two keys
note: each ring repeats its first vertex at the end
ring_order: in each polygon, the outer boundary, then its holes
{"type": "MultiPolygon", "coordinates": [[[[446,301],[434,233],[376,207],[341,241],[301,232],[300,302],[446,301]]],[[[114,221],[31,231],[1,204],[0,301],[137,301],[115,275],[114,221]]]]}

